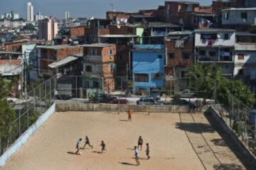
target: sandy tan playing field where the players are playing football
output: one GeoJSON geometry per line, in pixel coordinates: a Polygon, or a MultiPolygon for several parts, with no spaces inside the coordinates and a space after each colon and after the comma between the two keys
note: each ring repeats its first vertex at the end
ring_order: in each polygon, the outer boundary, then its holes
{"type": "Polygon", "coordinates": [[[126,120],[126,113],[55,113],[3,169],[245,169],[202,114],[134,113],[132,123],[126,120]],[[93,149],[72,154],[85,135],[93,149]],[[144,148],[141,165],[135,166],[132,148],[140,135],[144,148]],[[101,140],[107,145],[104,154],[97,153],[101,140]]]}

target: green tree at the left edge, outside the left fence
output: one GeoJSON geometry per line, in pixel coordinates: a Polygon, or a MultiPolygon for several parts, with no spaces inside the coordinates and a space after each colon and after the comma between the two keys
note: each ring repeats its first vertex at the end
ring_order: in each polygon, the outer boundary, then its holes
{"type": "Polygon", "coordinates": [[[6,81],[6,79],[0,77],[0,153],[4,151],[4,144],[8,142],[11,133],[10,125],[16,119],[14,109],[7,101],[10,86],[12,86],[11,81],[6,81]]]}

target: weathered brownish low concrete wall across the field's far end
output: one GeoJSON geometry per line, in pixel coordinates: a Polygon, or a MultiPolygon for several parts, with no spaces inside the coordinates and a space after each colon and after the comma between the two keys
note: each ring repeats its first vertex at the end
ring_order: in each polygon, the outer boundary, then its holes
{"type": "Polygon", "coordinates": [[[56,102],[56,111],[99,111],[99,112],[126,112],[132,109],[134,112],[150,113],[184,113],[189,111],[188,106],[142,106],[142,105],[119,105],[105,103],[83,103],[79,101],[56,102]]]}

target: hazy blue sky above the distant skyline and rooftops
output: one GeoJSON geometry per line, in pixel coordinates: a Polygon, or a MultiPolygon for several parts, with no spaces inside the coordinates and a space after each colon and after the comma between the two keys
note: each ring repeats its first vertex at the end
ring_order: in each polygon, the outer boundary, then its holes
{"type": "MultiPolygon", "coordinates": [[[[65,11],[70,11],[71,17],[105,18],[106,11],[114,10],[136,12],[139,9],[157,8],[164,5],[164,0],[0,0],[0,14],[19,13],[26,18],[26,3],[31,1],[34,13],[41,11],[45,16],[64,18],[65,11]]],[[[196,0],[186,0],[196,1],[196,0]]],[[[199,0],[201,5],[210,5],[212,0],[199,0]]]]}

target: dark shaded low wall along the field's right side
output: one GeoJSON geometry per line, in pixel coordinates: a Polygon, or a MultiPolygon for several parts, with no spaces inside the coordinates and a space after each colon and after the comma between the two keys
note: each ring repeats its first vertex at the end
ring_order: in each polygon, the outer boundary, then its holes
{"type": "Polygon", "coordinates": [[[241,140],[239,140],[238,136],[235,135],[235,132],[233,129],[231,129],[226,123],[223,118],[218,114],[218,111],[215,111],[215,109],[210,106],[208,110],[206,111],[206,114],[212,115],[215,123],[218,124],[218,126],[225,132],[225,135],[228,135],[230,139],[233,140],[233,145],[235,145],[236,148],[243,154],[242,156],[247,159],[248,162],[252,162],[252,164],[256,165],[256,157],[252,152],[250,152],[249,149],[242,143],[241,140]]]}

